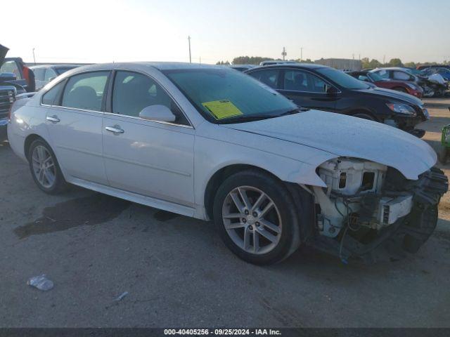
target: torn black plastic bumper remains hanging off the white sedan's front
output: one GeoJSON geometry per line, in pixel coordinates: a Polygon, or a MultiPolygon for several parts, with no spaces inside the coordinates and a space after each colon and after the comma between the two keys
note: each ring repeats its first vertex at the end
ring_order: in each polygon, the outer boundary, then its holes
{"type": "MultiPolygon", "coordinates": [[[[388,173],[390,192],[412,192],[413,208],[404,218],[380,230],[370,242],[361,242],[348,234],[347,229],[339,237],[321,235],[311,237],[307,244],[316,249],[339,256],[347,263],[350,258],[361,258],[366,263],[386,258],[399,258],[404,252],[416,253],[434,232],[437,225],[437,204],[448,190],[449,184],[442,170],[432,168],[418,180],[406,180],[397,172],[388,173]]],[[[364,240],[363,240],[364,241],[364,240]]]]}

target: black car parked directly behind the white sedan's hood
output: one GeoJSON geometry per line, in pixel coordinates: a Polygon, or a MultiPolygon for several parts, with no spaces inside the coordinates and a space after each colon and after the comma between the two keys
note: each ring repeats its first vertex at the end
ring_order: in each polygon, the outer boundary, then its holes
{"type": "Polygon", "coordinates": [[[338,112],[400,128],[419,138],[425,131],[423,102],[406,93],[374,87],[323,65],[269,65],[245,71],[300,107],[338,112]]]}

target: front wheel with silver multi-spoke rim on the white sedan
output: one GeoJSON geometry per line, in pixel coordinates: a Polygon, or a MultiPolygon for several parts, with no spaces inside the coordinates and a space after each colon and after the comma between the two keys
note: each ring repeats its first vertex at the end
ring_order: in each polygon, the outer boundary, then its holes
{"type": "Polygon", "coordinates": [[[278,263],[300,246],[290,192],[256,170],[235,173],[221,184],[214,198],[214,223],[226,246],[249,263],[278,263]]]}

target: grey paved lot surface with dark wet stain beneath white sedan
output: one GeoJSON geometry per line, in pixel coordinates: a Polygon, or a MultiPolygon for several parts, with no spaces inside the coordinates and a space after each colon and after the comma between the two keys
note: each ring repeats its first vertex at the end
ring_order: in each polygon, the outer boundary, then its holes
{"type": "MultiPolygon", "coordinates": [[[[436,147],[450,100],[426,102],[425,140],[436,147]]],[[[448,327],[449,198],[414,256],[343,265],[302,249],[257,267],[233,256],[211,223],[78,188],[46,195],[3,143],[0,326],[448,327]],[[41,274],[51,291],[27,286],[41,274]]]]}

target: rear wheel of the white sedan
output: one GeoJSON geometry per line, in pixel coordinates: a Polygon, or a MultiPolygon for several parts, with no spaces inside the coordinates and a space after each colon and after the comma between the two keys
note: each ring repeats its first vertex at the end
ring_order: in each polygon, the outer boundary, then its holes
{"type": "Polygon", "coordinates": [[[42,139],[34,140],[28,150],[28,163],[34,183],[48,194],[58,194],[67,189],[55,153],[42,139]]]}

